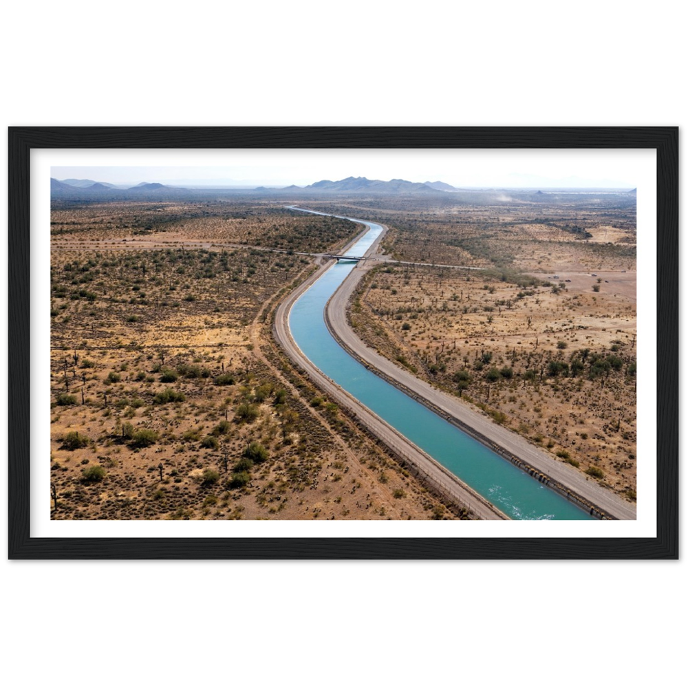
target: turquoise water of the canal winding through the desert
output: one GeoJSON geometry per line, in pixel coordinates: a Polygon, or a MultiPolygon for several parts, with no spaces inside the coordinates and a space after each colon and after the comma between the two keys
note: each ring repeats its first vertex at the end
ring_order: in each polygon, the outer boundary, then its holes
{"type": "MultiPolygon", "coordinates": [[[[369,231],[344,255],[363,255],[383,230],[374,222],[363,224],[369,231]]],[[[367,370],[338,345],[325,325],[325,305],[354,265],[333,265],[290,310],[292,337],[310,361],[508,517],[592,519],[587,512],[367,370]]]]}

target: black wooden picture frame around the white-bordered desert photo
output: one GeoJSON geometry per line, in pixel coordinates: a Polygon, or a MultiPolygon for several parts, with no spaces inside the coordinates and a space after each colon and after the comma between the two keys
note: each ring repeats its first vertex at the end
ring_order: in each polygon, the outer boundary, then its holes
{"type": "MultiPolygon", "coordinates": [[[[173,121],[173,120],[171,120],[173,121]]],[[[678,562],[678,126],[8,125],[8,560],[678,562]],[[30,536],[30,151],[50,148],[654,148],[657,151],[657,535],[654,538],[38,538],[30,536]]],[[[173,563],[177,562],[177,563],[173,563]]],[[[662,563],[660,563],[662,562],[662,563]]],[[[672,563],[673,562],[673,563],[672,563]]],[[[588,564],[586,564],[587,566],[588,564]]],[[[627,565],[626,565],[627,566],[627,565]]],[[[645,565],[648,566],[648,565],[645,565]]]]}

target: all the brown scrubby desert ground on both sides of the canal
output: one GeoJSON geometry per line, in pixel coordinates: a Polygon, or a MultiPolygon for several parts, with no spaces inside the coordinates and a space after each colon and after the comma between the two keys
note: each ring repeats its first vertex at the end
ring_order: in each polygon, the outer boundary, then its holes
{"type": "MultiPolygon", "coordinates": [[[[349,305],[365,343],[634,502],[634,202],[468,199],[297,204],[389,228],[349,305]]],[[[52,517],[474,517],[272,336],[322,267],[299,252],[360,229],[274,200],[54,204],[52,517]]]]}

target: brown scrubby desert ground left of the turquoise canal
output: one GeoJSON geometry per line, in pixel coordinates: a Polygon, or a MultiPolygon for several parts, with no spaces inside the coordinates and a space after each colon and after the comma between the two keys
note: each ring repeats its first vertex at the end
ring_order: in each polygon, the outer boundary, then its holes
{"type": "Polygon", "coordinates": [[[51,226],[54,519],[455,519],[270,334],[345,220],[99,203],[51,226]],[[246,248],[244,248],[246,246],[246,248]]]}

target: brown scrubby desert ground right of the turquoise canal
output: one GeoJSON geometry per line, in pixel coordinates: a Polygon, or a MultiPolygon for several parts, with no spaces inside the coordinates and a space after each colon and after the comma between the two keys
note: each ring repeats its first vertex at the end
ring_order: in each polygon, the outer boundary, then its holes
{"type": "Polygon", "coordinates": [[[636,499],[634,207],[374,211],[383,251],[427,266],[367,270],[350,303],[358,336],[636,499]]]}

